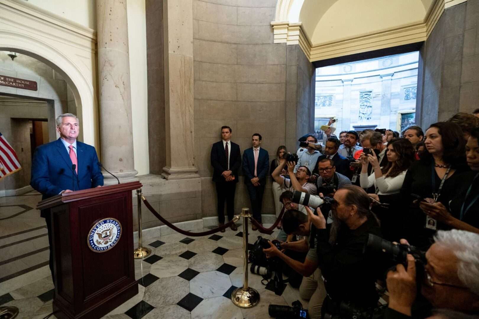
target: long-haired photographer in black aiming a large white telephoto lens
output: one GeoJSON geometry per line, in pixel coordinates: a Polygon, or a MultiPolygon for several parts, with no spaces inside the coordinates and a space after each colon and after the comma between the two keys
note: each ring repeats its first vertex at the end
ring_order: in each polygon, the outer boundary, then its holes
{"type": "Polygon", "coordinates": [[[377,305],[375,283],[381,264],[378,256],[363,253],[363,249],[368,235],[380,235],[381,231],[369,207],[370,198],[364,189],[345,185],[334,194],[330,234],[320,209],[317,209],[318,215],[308,212],[309,220],[318,229],[319,268],[328,292],[322,306],[323,315],[340,314],[342,304],[358,310],[377,305]]]}

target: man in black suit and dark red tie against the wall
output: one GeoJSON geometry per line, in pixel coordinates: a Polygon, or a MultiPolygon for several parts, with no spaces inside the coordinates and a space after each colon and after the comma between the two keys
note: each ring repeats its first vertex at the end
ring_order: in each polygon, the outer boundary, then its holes
{"type": "MultiPolygon", "coordinates": [[[[238,183],[238,169],[241,166],[241,152],[239,145],[231,142],[231,128],[221,127],[222,141],[213,144],[211,148],[211,165],[213,166],[213,182],[216,183],[218,194],[218,224],[225,224],[225,200],[227,205],[228,220],[234,217],[235,190],[238,183]]],[[[232,231],[238,227],[233,223],[230,226],[232,231]]],[[[225,232],[222,230],[221,232],[225,232]]]]}

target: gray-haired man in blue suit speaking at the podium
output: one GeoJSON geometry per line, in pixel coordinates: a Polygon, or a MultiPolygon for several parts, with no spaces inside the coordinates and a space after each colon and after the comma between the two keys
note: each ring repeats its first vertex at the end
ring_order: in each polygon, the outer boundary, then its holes
{"type": "MultiPolygon", "coordinates": [[[[103,186],[103,175],[95,148],[77,141],[80,132],[77,117],[71,113],[59,115],[57,132],[60,133],[57,141],[36,148],[30,185],[43,195],[42,199],[103,186]]],[[[50,271],[54,278],[50,209],[42,210],[40,216],[46,220],[50,271]]]]}

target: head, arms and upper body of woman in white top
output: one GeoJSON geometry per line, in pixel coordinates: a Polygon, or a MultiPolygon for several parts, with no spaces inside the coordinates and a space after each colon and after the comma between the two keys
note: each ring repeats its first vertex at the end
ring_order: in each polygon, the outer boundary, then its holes
{"type": "MultiPolygon", "coordinates": [[[[414,162],[414,149],[411,142],[405,138],[393,139],[388,143],[388,164],[379,166],[377,156],[374,152],[365,155],[361,154],[360,160],[363,165],[359,182],[361,187],[368,188],[374,185],[377,195],[392,195],[399,193],[404,177],[409,166],[414,162]],[[374,173],[367,176],[367,166],[371,164],[374,173]]],[[[378,197],[372,196],[376,200],[378,197]]]]}

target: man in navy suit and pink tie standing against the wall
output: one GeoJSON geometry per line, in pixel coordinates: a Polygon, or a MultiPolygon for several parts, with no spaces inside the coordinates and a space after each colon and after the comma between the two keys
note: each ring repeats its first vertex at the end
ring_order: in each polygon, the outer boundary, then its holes
{"type": "MultiPolygon", "coordinates": [[[[243,153],[244,183],[250,194],[253,217],[259,223],[262,223],[261,205],[269,168],[268,151],[260,147],[261,139],[262,137],[259,133],[254,133],[251,137],[253,147],[250,147],[243,153]]],[[[253,231],[257,230],[254,225],[251,226],[251,229],[253,231]]]]}

